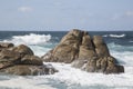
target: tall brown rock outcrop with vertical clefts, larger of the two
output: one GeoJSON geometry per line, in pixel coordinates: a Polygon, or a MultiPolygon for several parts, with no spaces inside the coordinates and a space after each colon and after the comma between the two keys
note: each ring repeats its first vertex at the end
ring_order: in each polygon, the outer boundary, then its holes
{"type": "Polygon", "coordinates": [[[88,32],[74,29],[60,43],[42,57],[47,62],[72,63],[89,72],[120,73],[124,67],[110,55],[101,36],[91,38],[88,32]]]}

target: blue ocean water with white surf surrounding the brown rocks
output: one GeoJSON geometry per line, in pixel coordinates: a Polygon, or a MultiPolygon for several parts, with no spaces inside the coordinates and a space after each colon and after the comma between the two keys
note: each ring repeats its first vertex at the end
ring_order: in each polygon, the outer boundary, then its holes
{"type": "MultiPolygon", "coordinates": [[[[1,42],[27,44],[37,56],[54,48],[65,31],[0,31],[1,42]]],[[[70,65],[52,63],[59,72],[50,76],[0,75],[0,89],[133,89],[133,31],[90,31],[105,40],[110,52],[125,72],[120,75],[90,73],[70,65]]]]}

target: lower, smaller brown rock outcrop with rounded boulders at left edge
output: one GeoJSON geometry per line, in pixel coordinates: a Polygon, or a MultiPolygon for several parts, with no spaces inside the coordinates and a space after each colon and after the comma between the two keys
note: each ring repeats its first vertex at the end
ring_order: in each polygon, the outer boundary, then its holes
{"type": "Polygon", "coordinates": [[[51,65],[43,65],[42,59],[24,44],[14,47],[13,43],[0,43],[0,72],[37,76],[58,71],[51,65]]]}

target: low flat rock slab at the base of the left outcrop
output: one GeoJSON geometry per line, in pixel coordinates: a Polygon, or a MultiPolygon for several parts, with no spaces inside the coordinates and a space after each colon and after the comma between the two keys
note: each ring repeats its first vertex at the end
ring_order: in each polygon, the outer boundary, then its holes
{"type": "Polygon", "coordinates": [[[53,67],[49,68],[47,66],[29,66],[29,65],[16,65],[1,69],[0,72],[19,75],[19,76],[39,76],[39,75],[53,75],[58,72],[53,67]]]}

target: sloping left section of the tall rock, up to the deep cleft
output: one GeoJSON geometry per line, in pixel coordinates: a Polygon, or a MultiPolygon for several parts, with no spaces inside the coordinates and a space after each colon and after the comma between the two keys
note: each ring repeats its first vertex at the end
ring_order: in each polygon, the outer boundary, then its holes
{"type": "Polygon", "coordinates": [[[45,61],[72,62],[78,56],[81,34],[82,32],[76,30],[69,32],[62,38],[60,44],[49,52],[49,55],[51,55],[50,58],[48,57],[48,53],[45,55],[47,57],[43,56],[42,58],[45,61]]]}

